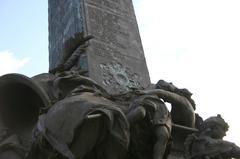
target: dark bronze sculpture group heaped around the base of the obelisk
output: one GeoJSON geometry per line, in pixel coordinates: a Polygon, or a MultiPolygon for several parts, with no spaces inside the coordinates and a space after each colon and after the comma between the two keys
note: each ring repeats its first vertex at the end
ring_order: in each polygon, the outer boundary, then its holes
{"type": "Polygon", "coordinates": [[[0,159],[162,159],[183,142],[187,159],[240,157],[224,120],[202,122],[187,89],[160,80],[113,95],[75,70],[87,40],[50,73],[0,77],[0,159]]]}

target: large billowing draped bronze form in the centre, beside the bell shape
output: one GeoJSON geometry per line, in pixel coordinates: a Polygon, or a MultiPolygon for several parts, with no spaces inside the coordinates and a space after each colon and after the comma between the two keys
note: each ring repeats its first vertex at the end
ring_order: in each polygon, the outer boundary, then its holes
{"type": "Polygon", "coordinates": [[[29,158],[126,155],[128,121],[102,87],[76,71],[65,71],[56,74],[53,89],[58,101],[40,116],[29,158]]]}

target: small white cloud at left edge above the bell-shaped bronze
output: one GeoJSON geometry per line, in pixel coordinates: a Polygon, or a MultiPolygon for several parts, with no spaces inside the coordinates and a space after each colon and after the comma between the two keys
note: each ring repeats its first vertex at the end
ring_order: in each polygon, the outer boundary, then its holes
{"type": "Polygon", "coordinates": [[[10,51],[0,51],[0,75],[18,73],[19,69],[29,61],[30,58],[28,57],[19,59],[10,51]]]}

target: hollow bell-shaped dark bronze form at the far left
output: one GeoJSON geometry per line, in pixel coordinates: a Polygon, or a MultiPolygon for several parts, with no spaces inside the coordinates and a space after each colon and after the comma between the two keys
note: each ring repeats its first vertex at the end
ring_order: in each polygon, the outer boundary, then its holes
{"type": "Polygon", "coordinates": [[[47,96],[30,78],[0,77],[0,159],[26,157],[40,109],[47,105],[47,96]]]}

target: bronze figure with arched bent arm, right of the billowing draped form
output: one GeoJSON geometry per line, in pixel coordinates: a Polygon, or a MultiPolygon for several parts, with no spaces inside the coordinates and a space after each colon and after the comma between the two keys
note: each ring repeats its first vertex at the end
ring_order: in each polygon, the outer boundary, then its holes
{"type": "Polygon", "coordinates": [[[136,93],[137,95],[131,100],[133,102],[130,104],[130,112],[127,114],[127,116],[131,115],[128,119],[131,119],[129,149],[130,151],[134,149],[131,153],[134,156],[132,158],[166,157],[172,126],[190,132],[197,131],[194,129],[195,103],[187,89],[178,89],[172,83],[160,80],[154,89],[136,90],[136,93]],[[171,103],[171,114],[177,117],[170,115],[163,101],[171,103]]]}

